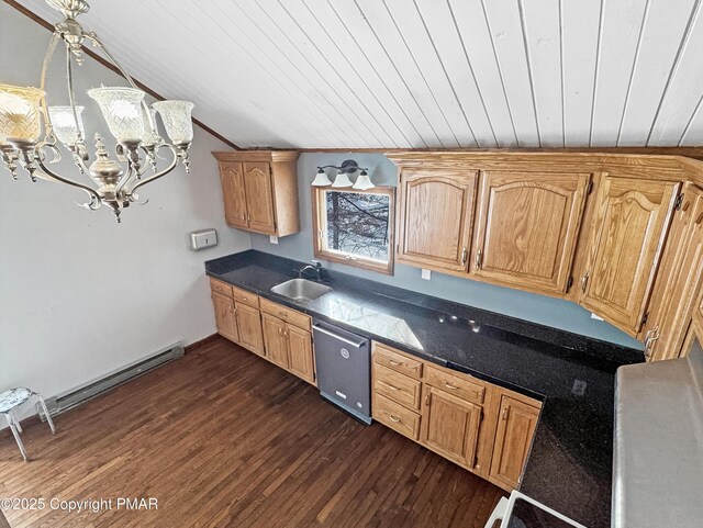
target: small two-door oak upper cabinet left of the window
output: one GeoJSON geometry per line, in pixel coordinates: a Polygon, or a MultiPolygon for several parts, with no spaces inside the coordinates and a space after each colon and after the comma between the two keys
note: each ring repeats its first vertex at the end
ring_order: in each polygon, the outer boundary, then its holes
{"type": "Polygon", "coordinates": [[[213,153],[220,162],[225,220],[232,227],[286,236],[300,231],[299,153],[213,153]]]}

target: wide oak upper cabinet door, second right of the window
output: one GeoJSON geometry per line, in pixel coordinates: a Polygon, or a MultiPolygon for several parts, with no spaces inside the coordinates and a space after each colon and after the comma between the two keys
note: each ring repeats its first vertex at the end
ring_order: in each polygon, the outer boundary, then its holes
{"type": "Polygon", "coordinates": [[[482,173],[472,273],[540,293],[566,292],[590,178],[482,173]]]}

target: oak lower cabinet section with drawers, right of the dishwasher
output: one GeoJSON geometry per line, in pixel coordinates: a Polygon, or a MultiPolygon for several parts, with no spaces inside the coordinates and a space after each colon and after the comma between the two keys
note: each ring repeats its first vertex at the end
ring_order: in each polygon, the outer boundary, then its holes
{"type": "Polygon", "coordinates": [[[506,491],[520,485],[540,407],[522,394],[372,345],[373,419],[506,491]]]}

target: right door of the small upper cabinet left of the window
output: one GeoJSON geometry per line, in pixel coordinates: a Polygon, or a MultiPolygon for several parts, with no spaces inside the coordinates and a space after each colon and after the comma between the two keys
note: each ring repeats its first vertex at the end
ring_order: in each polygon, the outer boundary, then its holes
{"type": "Polygon", "coordinates": [[[267,162],[244,161],[243,167],[249,229],[274,235],[276,216],[270,166],[267,162]]]}

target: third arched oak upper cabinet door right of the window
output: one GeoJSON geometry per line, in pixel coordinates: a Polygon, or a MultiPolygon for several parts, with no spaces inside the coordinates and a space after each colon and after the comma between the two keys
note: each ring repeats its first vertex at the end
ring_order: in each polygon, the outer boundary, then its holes
{"type": "Polygon", "coordinates": [[[637,335],[679,183],[605,177],[595,203],[580,303],[637,335]]]}

